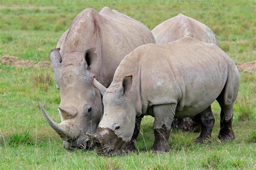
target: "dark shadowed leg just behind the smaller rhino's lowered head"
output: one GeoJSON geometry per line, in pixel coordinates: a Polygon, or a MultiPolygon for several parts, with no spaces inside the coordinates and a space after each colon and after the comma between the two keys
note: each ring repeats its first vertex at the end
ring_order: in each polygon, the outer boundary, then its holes
{"type": "Polygon", "coordinates": [[[128,151],[136,151],[136,147],[134,146],[134,143],[135,143],[135,141],[137,140],[137,138],[139,136],[140,123],[142,123],[142,118],[143,117],[144,117],[144,115],[136,117],[135,128],[134,128],[134,131],[133,131],[132,139],[125,146],[126,150],[128,150],[128,151]]]}

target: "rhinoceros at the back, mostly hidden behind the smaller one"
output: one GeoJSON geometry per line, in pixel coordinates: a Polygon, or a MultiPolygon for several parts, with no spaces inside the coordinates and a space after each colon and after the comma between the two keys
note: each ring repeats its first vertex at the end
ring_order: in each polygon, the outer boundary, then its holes
{"type": "MultiPolygon", "coordinates": [[[[189,36],[218,46],[217,38],[208,26],[181,13],[154,27],[152,33],[160,44],[189,36]]],[[[194,118],[174,119],[173,126],[187,131],[199,131],[200,121],[194,118]]]]}

